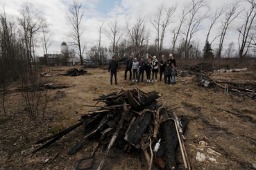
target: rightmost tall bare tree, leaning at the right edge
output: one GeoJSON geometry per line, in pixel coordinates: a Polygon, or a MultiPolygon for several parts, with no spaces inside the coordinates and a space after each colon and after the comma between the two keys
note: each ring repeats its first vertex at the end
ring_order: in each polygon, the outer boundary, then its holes
{"type": "Polygon", "coordinates": [[[247,0],[249,3],[249,8],[244,9],[244,23],[241,24],[239,28],[237,28],[239,32],[238,44],[239,44],[239,56],[243,58],[250,48],[250,44],[253,41],[254,34],[252,33],[252,26],[254,19],[256,17],[256,1],[255,0],[247,0]]]}

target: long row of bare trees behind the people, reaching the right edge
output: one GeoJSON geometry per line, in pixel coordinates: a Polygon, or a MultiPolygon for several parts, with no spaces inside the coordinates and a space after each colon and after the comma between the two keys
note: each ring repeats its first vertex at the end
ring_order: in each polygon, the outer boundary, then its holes
{"type": "Polygon", "coordinates": [[[185,1],[171,7],[161,3],[149,17],[138,15],[134,20],[115,17],[110,23],[103,22],[99,26],[99,45],[94,44],[89,48],[87,55],[98,62],[105,61],[105,53],[101,51],[108,51],[108,55],[117,58],[129,55],[140,57],[149,50],[158,57],[164,51],[169,51],[174,56],[185,59],[212,59],[234,55],[240,58],[252,57],[249,52],[254,51],[256,45],[255,5],[255,0],[232,1],[213,11],[207,0],[185,1]],[[122,20],[125,21],[124,24],[122,20]],[[219,30],[217,35],[212,35],[214,29],[219,30]],[[199,33],[203,37],[203,32],[206,32],[205,44],[201,46],[194,37],[199,33]],[[108,50],[101,47],[102,33],[110,40],[108,50]],[[223,50],[227,34],[237,37],[237,54],[234,54],[234,42],[223,50]],[[171,41],[171,44],[164,43],[165,41],[171,41]],[[215,50],[212,49],[213,43],[218,46],[215,50]]]}

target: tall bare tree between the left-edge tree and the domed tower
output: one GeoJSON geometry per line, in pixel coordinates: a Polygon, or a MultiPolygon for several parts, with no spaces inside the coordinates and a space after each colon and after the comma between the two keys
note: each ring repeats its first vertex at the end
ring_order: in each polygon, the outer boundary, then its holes
{"type": "Polygon", "coordinates": [[[40,12],[37,12],[31,3],[23,3],[20,14],[21,16],[18,21],[21,29],[19,33],[21,34],[22,43],[25,48],[24,54],[22,54],[22,56],[25,56],[25,59],[22,58],[22,62],[24,62],[20,66],[22,69],[20,70],[23,88],[22,96],[26,102],[28,116],[36,120],[41,111],[42,117],[44,117],[44,111],[49,98],[47,91],[39,91],[38,89],[42,84],[40,77],[42,68],[35,61],[35,42],[37,35],[42,28],[45,28],[46,23],[40,16],[40,12]],[[33,66],[31,62],[33,62],[33,66]],[[42,110],[40,106],[42,106],[42,110]]]}

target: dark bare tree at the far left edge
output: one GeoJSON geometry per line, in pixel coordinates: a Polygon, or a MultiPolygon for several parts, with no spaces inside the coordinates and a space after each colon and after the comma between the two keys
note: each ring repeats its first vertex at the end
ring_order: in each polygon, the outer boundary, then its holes
{"type": "MultiPolygon", "coordinates": [[[[0,96],[3,112],[6,116],[6,91],[10,84],[19,78],[19,57],[23,48],[19,48],[15,23],[8,21],[6,12],[0,14],[0,96]]],[[[0,104],[0,105],[1,105],[0,104]]]]}

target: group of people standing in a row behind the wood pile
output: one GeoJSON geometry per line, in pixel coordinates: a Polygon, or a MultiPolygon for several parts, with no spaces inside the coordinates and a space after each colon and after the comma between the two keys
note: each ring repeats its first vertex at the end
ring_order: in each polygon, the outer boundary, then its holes
{"type": "MultiPolygon", "coordinates": [[[[130,55],[129,59],[126,61],[126,70],[124,73],[124,79],[127,79],[127,73],[129,72],[129,79],[133,82],[139,83],[143,82],[144,79],[144,72],[146,72],[146,82],[157,82],[157,73],[159,72],[160,68],[160,82],[162,81],[162,75],[164,74],[164,83],[165,84],[176,84],[176,76],[178,75],[177,68],[176,68],[176,60],[173,58],[173,55],[169,55],[169,59],[166,59],[164,55],[162,55],[162,59],[160,62],[157,61],[156,57],[147,59],[145,61],[144,57],[142,57],[141,61],[138,62],[137,58],[133,59],[133,56],[130,55]],[[152,80],[151,80],[151,72],[152,72],[152,80]],[[155,79],[155,80],[154,80],[155,79]],[[168,81],[168,82],[167,82],[168,81]]],[[[117,62],[115,58],[112,57],[110,65],[108,67],[108,72],[110,73],[110,84],[112,84],[112,79],[114,76],[115,84],[117,84],[117,62]]]]}

